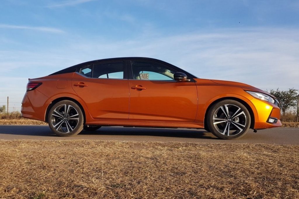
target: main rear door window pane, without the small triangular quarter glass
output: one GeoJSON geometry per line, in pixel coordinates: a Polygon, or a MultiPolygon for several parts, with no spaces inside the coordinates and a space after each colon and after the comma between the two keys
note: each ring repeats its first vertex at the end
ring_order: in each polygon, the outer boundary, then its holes
{"type": "Polygon", "coordinates": [[[94,64],[93,78],[123,79],[123,62],[94,64]]]}

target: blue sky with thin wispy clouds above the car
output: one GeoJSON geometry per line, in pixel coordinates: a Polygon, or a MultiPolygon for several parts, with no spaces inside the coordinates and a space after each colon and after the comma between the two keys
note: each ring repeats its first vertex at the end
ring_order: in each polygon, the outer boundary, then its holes
{"type": "Polygon", "coordinates": [[[28,78],[123,56],[263,90],[299,88],[298,19],[299,1],[2,0],[0,98],[23,97],[28,78]]]}

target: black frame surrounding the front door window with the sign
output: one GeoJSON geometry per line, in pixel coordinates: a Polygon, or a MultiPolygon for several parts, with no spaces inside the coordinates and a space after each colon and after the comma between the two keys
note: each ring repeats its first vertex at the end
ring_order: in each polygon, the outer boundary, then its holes
{"type": "MultiPolygon", "coordinates": [[[[136,80],[136,79],[133,79],[133,69],[132,69],[132,63],[135,62],[135,61],[140,61],[140,62],[149,62],[149,63],[155,63],[155,64],[159,64],[163,67],[165,67],[166,69],[170,69],[171,71],[175,71],[175,72],[182,72],[182,73],[185,73],[187,75],[187,79],[190,79],[189,82],[195,82],[195,80],[188,76],[189,73],[187,73],[186,71],[180,69],[176,69],[168,64],[164,64],[164,63],[159,63],[159,62],[155,62],[155,61],[152,61],[152,60],[139,60],[139,59],[131,59],[131,60],[128,60],[127,61],[127,65],[128,65],[128,79],[129,80],[136,80]]],[[[179,82],[179,81],[176,81],[176,80],[139,80],[139,81],[160,81],[160,82],[179,82]]]]}

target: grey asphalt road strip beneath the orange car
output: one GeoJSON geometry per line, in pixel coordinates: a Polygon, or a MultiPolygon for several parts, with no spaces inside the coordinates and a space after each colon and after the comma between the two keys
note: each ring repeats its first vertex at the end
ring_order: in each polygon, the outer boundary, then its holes
{"type": "Polygon", "coordinates": [[[0,139],[34,139],[34,140],[120,140],[120,141],[160,141],[160,142],[196,142],[196,143],[267,143],[299,144],[299,128],[273,128],[253,130],[238,140],[221,140],[205,130],[196,129],[161,129],[102,127],[97,131],[82,131],[72,137],[58,137],[48,126],[0,125],[0,139]]]}

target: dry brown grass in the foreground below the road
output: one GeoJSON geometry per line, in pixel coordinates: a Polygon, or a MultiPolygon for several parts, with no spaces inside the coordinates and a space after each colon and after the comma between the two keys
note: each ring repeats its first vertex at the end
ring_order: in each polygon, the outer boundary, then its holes
{"type": "Polygon", "coordinates": [[[0,141],[0,198],[299,198],[299,146],[0,141]]]}

